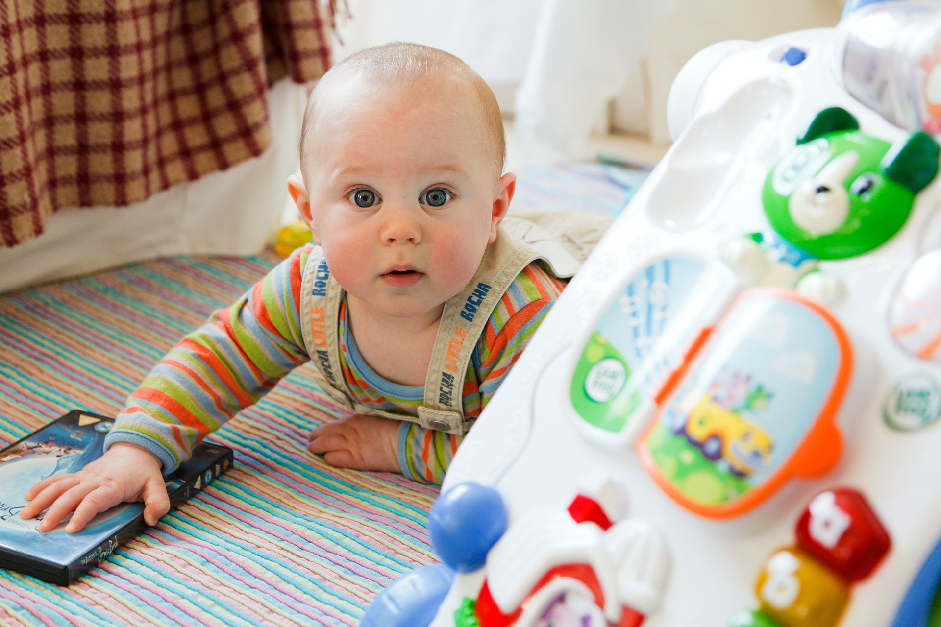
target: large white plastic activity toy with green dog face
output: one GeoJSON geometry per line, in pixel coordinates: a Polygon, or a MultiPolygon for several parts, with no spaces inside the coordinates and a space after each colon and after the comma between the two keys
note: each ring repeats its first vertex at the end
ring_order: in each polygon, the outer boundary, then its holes
{"type": "Polygon", "coordinates": [[[363,624],[941,625],[936,61],[907,0],[694,57],[363,624]]]}

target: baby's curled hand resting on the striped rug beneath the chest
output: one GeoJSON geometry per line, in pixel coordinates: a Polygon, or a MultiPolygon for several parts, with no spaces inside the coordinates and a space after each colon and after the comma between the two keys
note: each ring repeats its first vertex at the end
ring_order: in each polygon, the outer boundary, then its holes
{"type": "Polygon", "coordinates": [[[398,420],[351,415],[311,431],[307,449],[338,468],[401,473],[398,420]]]}

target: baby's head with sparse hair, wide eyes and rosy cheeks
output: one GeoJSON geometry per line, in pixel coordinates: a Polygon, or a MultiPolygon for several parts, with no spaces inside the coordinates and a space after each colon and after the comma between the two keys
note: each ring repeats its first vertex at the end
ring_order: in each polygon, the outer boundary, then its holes
{"type": "Polygon", "coordinates": [[[301,135],[303,180],[288,185],[331,274],[375,313],[439,314],[470,282],[514,192],[483,79],[435,48],[370,48],[321,79],[301,135]]]}

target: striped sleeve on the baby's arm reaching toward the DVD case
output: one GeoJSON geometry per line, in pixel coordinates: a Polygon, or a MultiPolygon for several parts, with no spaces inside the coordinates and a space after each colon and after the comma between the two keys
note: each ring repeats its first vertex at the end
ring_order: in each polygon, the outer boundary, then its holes
{"type": "Polygon", "coordinates": [[[134,444],[172,472],[210,431],[308,361],[299,309],[310,250],[295,251],[232,306],[183,337],[128,399],[105,450],[116,442],[134,444]]]}

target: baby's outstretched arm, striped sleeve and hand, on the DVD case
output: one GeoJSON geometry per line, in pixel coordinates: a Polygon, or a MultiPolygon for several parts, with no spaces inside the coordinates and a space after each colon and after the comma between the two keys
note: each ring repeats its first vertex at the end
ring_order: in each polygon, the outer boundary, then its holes
{"type": "Polygon", "coordinates": [[[75,509],[69,530],[78,531],[95,513],[144,498],[145,518],[154,524],[169,509],[161,467],[164,474],[175,470],[207,433],[309,359],[299,304],[310,251],[295,251],[234,305],[184,337],[128,399],[105,439],[104,456],[82,472],[34,486],[27,494],[33,502],[21,515],[49,507],[40,525],[46,530],[75,509]]]}

